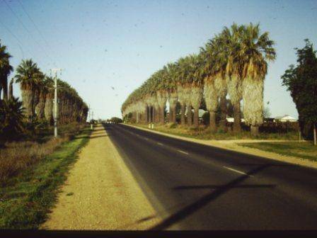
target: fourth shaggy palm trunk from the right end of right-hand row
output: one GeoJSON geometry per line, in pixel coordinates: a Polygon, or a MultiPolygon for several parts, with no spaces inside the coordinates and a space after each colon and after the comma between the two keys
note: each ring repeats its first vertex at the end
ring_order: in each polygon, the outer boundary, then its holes
{"type": "Polygon", "coordinates": [[[209,128],[212,132],[217,130],[216,111],[218,107],[217,91],[214,87],[214,79],[211,77],[204,79],[204,101],[209,111],[209,128]]]}

